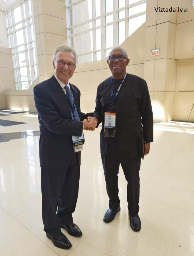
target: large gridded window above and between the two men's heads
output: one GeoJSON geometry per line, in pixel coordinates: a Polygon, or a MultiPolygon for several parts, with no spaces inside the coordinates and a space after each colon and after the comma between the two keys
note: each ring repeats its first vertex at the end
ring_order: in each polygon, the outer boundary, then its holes
{"type": "Polygon", "coordinates": [[[66,0],[68,45],[78,63],[106,58],[145,22],[146,0],[66,0]]]}

